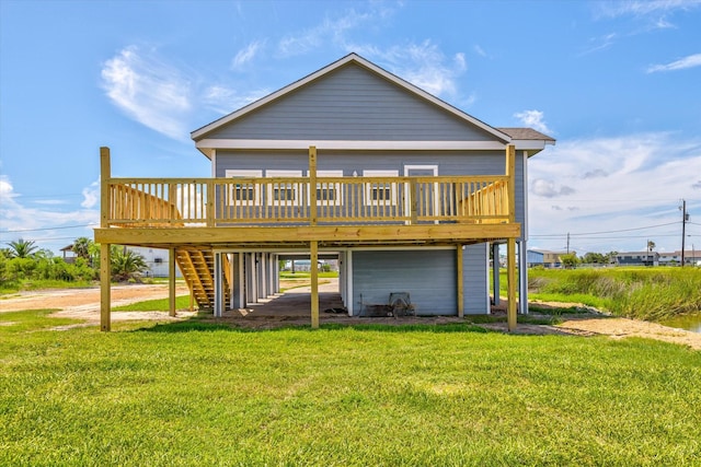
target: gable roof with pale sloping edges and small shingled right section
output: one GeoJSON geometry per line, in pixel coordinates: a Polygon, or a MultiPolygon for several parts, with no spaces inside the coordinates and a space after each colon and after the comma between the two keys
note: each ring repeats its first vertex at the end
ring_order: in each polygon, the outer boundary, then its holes
{"type": "MultiPolygon", "coordinates": [[[[481,129],[482,131],[484,131],[487,135],[493,136],[496,140],[503,142],[504,144],[508,144],[512,142],[516,142],[516,140],[518,140],[519,142],[521,142],[521,144],[517,145],[517,149],[524,149],[524,150],[535,150],[535,152],[538,152],[540,150],[542,150],[543,145],[547,143],[554,143],[554,139],[542,135],[536,130],[532,130],[530,128],[495,128],[492,127],[487,124],[485,124],[484,121],[453,107],[452,105],[446,103],[445,101],[434,96],[433,94],[427,93],[426,91],[422,90],[421,87],[397,77],[395,74],[378,67],[377,65],[366,60],[365,58],[360,57],[357,54],[348,54],[347,56],[334,61],[331,65],[327,65],[326,67],[291,83],[288,84],[287,86],[272,93],[268,94],[265,97],[260,98],[258,101],[255,101],[238,110],[232,112],[229,115],[226,115],[195,131],[193,131],[191,133],[191,138],[193,140],[200,141],[203,139],[205,139],[209,133],[212,133],[219,129],[221,129],[222,127],[231,124],[232,121],[240,119],[253,112],[255,112],[256,109],[264,107],[275,101],[277,101],[278,98],[281,98],[283,96],[299,90],[300,87],[303,87],[308,84],[310,84],[311,82],[314,82],[315,80],[320,79],[321,77],[324,77],[348,63],[354,63],[357,65],[377,75],[379,75],[380,78],[393,83],[397,86],[402,87],[403,90],[412,93],[415,96],[421,97],[424,101],[429,102],[430,104],[444,109],[445,112],[448,112],[449,114],[452,114],[453,116],[458,117],[459,119],[461,119],[462,121],[466,121],[468,124],[471,124],[472,126],[481,129]],[[520,148],[519,148],[520,145],[520,148]]],[[[200,149],[202,150],[202,149],[200,149]]],[[[203,151],[204,152],[204,151],[203,151]]],[[[535,153],[532,152],[532,153],[535,153]]],[[[529,153],[529,155],[532,155],[532,153],[529,153]]]]}

